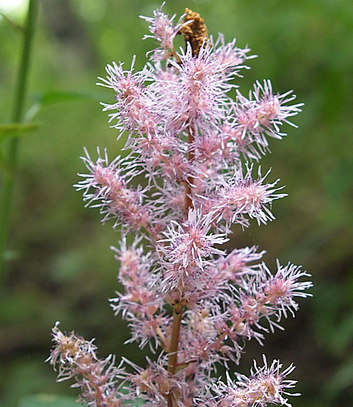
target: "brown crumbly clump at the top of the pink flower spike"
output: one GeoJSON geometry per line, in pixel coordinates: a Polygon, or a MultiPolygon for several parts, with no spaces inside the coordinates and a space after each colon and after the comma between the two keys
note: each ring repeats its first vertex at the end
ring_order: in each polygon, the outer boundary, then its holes
{"type": "Polygon", "coordinates": [[[190,21],[189,24],[184,24],[180,28],[180,34],[185,38],[185,43],[188,42],[193,50],[193,55],[198,56],[200,48],[208,40],[207,27],[205,21],[201,18],[199,13],[193,12],[192,10],[185,9],[185,19],[184,21],[190,21]]]}

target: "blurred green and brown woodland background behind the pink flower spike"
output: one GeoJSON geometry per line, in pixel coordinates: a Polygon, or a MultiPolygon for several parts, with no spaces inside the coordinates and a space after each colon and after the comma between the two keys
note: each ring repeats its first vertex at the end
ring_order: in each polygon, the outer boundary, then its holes
{"type": "MultiPolygon", "coordinates": [[[[0,0],[0,8],[5,7],[0,0]]],[[[11,2],[10,2],[11,3],[11,2]]],[[[23,3],[23,2],[22,2],[23,3]]],[[[114,95],[95,85],[112,61],[136,67],[146,62],[152,40],[141,41],[160,6],[150,0],[42,0],[34,38],[27,107],[39,106],[38,130],[20,140],[6,276],[0,298],[0,405],[26,405],[23,396],[68,394],[68,383],[44,364],[50,329],[96,338],[99,355],[126,355],[144,363],[144,352],[122,346],[129,337],[107,298],[118,289],[111,245],[118,234],[100,215],[85,209],[72,185],[85,172],[79,156],[96,146],[115,157],[123,141],[107,124],[99,101],[114,95]],[[44,97],[44,96],[45,97],[44,97]],[[76,95],[76,96],[75,96],[76,95]],[[40,102],[45,102],[40,105],[40,102]],[[22,402],[20,400],[22,399],[22,402]]],[[[248,373],[252,359],[279,358],[297,368],[301,397],[293,406],[353,405],[352,128],[353,2],[351,0],[173,0],[169,14],[188,7],[205,19],[209,33],[249,44],[258,58],[239,79],[247,93],[269,78],[275,90],[293,89],[303,112],[286,127],[282,141],[270,140],[272,167],[289,196],[275,202],[277,220],[244,232],[236,230],[229,248],[259,245],[275,267],[301,264],[312,274],[314,295],[300,301],[285,331],[268,334],[264,347],[247,344],[234,370],[248,373]]],[[[1,9],[22,24],[24,7],[1,9]]],[[[22,36],[0,17],[0,123],[8,123],[22,36]]],[[[29,405],[29,404],[27,404],[29,405]]]]}

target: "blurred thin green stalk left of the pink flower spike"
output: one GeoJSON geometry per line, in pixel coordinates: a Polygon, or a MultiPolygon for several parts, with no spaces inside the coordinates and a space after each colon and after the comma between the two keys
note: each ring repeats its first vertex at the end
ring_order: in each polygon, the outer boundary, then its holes
{"type": "MultiPolygon", "coordinates": [[[[26,95],[26,85],[30,66],[30,56],[32,49],[32,40],[36,20],[37,0],[30,0],[28,14],[24,27],[23,47],[21,61],[18,70],[17,89],[15,94],[15,103],[12,113],[12,123],[21,123],[23,121],[24,101],[26,95]]],[[[0,207],[0,282],[4,278],[4,260],[7,245],[9,216],[11,208],[11,196],[14,184],[14,172],[16,167],[16,158],[18,150],[18,137],[12,137],[8,143],[8,149],[4,152],[7,171],[3,172],[2,198],[0,207]]]]}

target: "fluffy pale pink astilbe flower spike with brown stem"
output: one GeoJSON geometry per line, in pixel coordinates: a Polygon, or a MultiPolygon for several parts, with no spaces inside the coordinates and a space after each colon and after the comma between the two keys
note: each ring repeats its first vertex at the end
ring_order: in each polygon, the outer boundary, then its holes
{"type": "Polygon", "coordinates": [[[88,174],[75,187],[87,206],[113,219],[122,240],[114,248],[123,292],[111,299],[131,329],[128,342],[148,345],[155,356],[140,367],[123,358],[98,359],[92,341],[53,328],[48,360],[59,380],[74,379],[89,406],[245,407],[290,404],[286,380],[293,370],[263,357],[250,377],[218,366],[239,363],[246,341],[294,315],[297,297],[311,286],[309,274],[292,264],[271,272],[256,246],[222,250],[234,229],[274,219],[273,200],[285,196],[254,162],[268,152],[268,137],[281,139],[283,123],[300,111],[291,92],[274,93],[257,81],[249,96],[233,79],[248,69],[249,49],[219,35],[208,37],[199,14],[186,9],[175,22],[160,10],[144,18],[158,46],[150,62],[134,71],[107,65],[99,85],[113,89],[112,127],[128,134],[127,157],[109,162],[106,152],[83,158],[88,174]],[[176,35],[185,49],[173,46],[176,35]],[[235,91],[234,91],[235,89],[235,91]],[[235,100],[229,94],[235,92],[235,100]],[[145,176],[144,185],[133,180],[145,176]],[[134,236],[128,245],[127,235],[134,236]]]}

